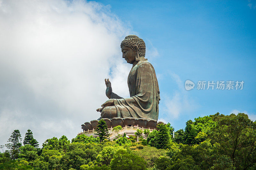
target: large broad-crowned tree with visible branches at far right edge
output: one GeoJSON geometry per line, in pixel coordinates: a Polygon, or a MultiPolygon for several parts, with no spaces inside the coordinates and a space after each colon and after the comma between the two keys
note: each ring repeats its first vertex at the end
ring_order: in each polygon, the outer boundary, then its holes
{"type": "Polygon", "coordinates": [[[256,123],[248,115],[222,116],[209,137],[218,152],[227,155],[236,169],[249,169],[256,163],[256,123]]]}

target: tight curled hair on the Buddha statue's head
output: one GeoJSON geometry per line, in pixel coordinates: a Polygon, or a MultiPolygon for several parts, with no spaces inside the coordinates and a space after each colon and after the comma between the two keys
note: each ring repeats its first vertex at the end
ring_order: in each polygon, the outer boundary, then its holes
{"type": "Polygon", "coordinates": [[[135,50],[133,46],[137,45],[139,47],[138,52],[140,57],[145,57],[146,54],[146,44],[143,39],[139,38],[137,35],[128,35],[121,42],[122,46],[128,46],[132,48],[132,51],[135,50]]]}

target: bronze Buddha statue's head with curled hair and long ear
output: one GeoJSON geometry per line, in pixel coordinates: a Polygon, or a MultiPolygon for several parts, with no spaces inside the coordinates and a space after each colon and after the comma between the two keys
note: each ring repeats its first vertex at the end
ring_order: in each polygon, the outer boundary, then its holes
{"type": "Polygon", "coordinates": [[[133,64],[145,58],[146,45],[138,36],[128,35],[121,42],[121,50],[127,63],[133,64]]]}

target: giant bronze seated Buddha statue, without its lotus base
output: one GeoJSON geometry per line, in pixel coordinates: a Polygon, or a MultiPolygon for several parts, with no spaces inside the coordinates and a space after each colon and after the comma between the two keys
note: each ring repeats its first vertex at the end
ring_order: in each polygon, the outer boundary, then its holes
{"type": "Polygon", "coordinates": [[[148,59],[145,59],[145,42],[136,35],[128,35],[121,43],[121,51],[124,60],[132,64],[127,80],[130,97],[123,98],[115,94],[111,82],[105,79],[106,96],[109,99],[97,109],[101,112],[98,120],[132,117],[157,121],[160,91],[155,69],[148,59]]]}

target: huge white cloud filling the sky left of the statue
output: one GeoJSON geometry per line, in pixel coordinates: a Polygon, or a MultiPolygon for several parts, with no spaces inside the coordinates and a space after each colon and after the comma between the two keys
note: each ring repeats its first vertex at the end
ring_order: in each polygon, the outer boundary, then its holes
{"type": "Polygon", "coordinates": [[[70,140],[97,119],[113,91],[129,96],[131,65],[120,42],[130,28],[104,6],[82,0],[0,1],[0,145],[27,129],[42,144],[70,140]],[[110,74],[111,68],[111,74],[110,74]]]}

